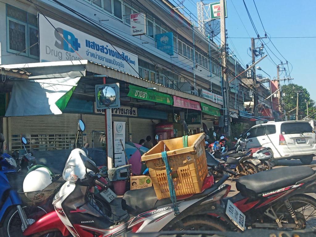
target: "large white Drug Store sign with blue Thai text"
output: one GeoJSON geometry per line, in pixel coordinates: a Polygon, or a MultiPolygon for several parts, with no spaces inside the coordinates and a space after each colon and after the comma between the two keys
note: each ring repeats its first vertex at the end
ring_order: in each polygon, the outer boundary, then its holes
{"type": "Polygon", "coordinates": [[[39,37],[40,62],[88,59],[138,76],[137,55],[41,14],[39,37]]]}

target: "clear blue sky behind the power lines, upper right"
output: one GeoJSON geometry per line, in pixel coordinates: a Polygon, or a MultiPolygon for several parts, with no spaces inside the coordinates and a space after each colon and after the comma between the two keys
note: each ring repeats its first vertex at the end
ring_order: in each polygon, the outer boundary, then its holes
{"type": "MultiPolygon", "coordinates": [[[[179,0],[171,0],[175,5],[179,4],[179,0]]],[[[191,20],[197,21],[197,7],[196,0],[184,1],[184,14],[188,16],[189,12],[191,20]]],[[[204,0],[204,4],[217,2],[204,0]]],[[[250,12],[252,20],[260,34],[264,36],[264,30],[260,23],[258,13],[256,11],[253,0],[245,0],[247,8],[250,12]]],[[[316,1],[294,1],[294,0],[255,0],[265,31],[270,34],[271,41],[276,46],[283,57],[293,65],[291,77],[293,83],[301,85],[309,91],[311,99],[316,100],[316,93],[314,88],[316,84],[316,70],[315,70],[315,43],[316,38],[296,38],[296,39],[273,39],[272,37],[301,37],[301,36],[316,36],[316,19],[315,9],[316,1]]],[[[180,9],[182,12],[182,10],[180,9]]],[[[226,18],[226,29],[229,37],[256,37],[256,33],[251,25],[247,15],[243,0],[227,0],[228,18],[226,18]],[[240,21],[239,16],[233,6],[238,11],[238,14],[243,21],[245,27],[240,21]],[[248,33],[246,32],[248,31],[248,33]]],[[[189,17],[188,17],[189,18],[189,17]]],[[[218,35],[220,36],[220,35],[218,35]]],[[[264,42],[271,49],[271,51],[285,63],[285,59],[277,52],[276,48],[269,42],[269,39],[264,39],[264,42]]],[[[234,51],[240,61],[247,64],[251,61],[251,56],[248,55],[249,47],[251,46],[250,39],[228,39],[228,47],[234,51]],[[234,46],[233,46],[234,45],[234,46]],[[237,51],[237,52],[236,52],[237,51]]],[[[276,58],[273,53],[266,47],[265,53],[269,53],[276,64],[280,60],[276,58]]],[[[258,64],[271,78],[276,77],[276,65],[268,57],[263,59],[258,64]]],[[[287,66],[285,65],[288,70],[287,66]]],[[[289,65],[289,71],[291,71],[289,65]]],[[[262,71],[256,71],[263,76],[266,74],[262,71]]],[[[280,72],[281,74],[281,72],[280,72]]],[[[280,76],[283,78],[285,73],[280,76]]],[[[281,82],[283,85],[284,82],[281,82]]],[[[288,84],[288,82],[285,82],[288,84]]]]}

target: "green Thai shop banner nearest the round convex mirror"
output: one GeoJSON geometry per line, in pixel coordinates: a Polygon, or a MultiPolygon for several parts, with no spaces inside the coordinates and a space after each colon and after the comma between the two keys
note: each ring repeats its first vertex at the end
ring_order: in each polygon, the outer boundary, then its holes
{"type": "Polygon", "coordinates": [[[129,97],[140,100],[153,101],[166,105],[173,105],[173,99],[171,95],[133,85],[129,85],[129,88],[130,91],[127,94],[127,96],[129,97]]]}

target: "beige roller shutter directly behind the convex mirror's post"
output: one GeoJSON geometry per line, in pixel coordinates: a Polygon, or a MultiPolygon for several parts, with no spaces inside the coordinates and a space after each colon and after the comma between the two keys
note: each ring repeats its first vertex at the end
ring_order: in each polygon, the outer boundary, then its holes
{"type": "MultiPolygon", "coordinates": [[[[83,121],[86,124],[87,142],[92,147],[92,131],[105,131],[105,118],[104,114],[84,114],[83,121]]],[[[128,118],[112,116],[112,121],[125,122],[125,142],[128,142],[128,118]]]]}

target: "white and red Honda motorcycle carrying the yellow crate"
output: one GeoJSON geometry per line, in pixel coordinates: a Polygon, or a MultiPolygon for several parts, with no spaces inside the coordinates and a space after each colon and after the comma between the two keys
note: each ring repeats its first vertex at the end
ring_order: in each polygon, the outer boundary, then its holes
{"type": "MultiPolygon", "coordinates": [[[[174,205],[169,198],[158,200],[153,187],[127,191],[123,198],[118,198],[98,173],[99,169],[82,149],[72,150],[63,172],[66,183],[53,199],[55,211],[27,227],[23,235],[47,234],[56,229],[63,236],[76,237],[201,226],[225,229],[206,210],[213,210],[212,203],[227,196],[229,185],[223,181],[228,175],[216,185],[212,185],[212,176],[207,177],[202,193],[178,197],[174,205]],[[100,188],[100,195],[91,192],[94,186],[100,188]]],[[[226,221],[230,222],[228,218],[226,221]]]]}

